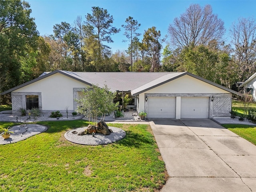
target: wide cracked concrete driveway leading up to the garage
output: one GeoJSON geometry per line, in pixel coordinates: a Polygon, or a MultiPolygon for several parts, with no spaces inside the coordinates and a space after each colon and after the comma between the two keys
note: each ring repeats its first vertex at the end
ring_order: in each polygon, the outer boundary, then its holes
{"type": "Polygon", "coordinates": [[[152,119],[170,176],[161,192],[256,192],[256,146],[210,119],[152,119]]]}

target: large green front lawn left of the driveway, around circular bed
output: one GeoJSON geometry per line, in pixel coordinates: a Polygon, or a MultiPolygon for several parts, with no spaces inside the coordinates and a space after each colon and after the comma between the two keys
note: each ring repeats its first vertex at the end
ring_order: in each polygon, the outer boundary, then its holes
{"type": "Polygon", "coordinates": [[[108,124],[125,130],[126,137],[113,144],[84,146],[64,138],[67,130],[87,126],[84,120],[38,124],[48,130],[0,145],[0,191],[154,192],[166,182],[149,125],[108,124]]]}

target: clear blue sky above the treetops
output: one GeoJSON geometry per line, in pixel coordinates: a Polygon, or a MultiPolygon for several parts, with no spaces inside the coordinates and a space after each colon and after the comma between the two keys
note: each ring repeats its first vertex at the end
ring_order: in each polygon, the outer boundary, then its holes
{"type": "MultiPolygon", "coordinates": [[[[114,43],[109,44],[112,52],[116,50],[126,50],[128,42],[124,34],[122,24],[126,18],[132,16],[141,26],[138,32],[143,38],[144,30],[155,26],[160,30],[162,36],[168,34],[168,26],[175,17],[180,17],[190,4],[200,4],[205,6],[210,4],[214,14],[224,21],[226,28],[226,44],[230,43],[229,28],[234,21],[240,17],[253,16],[256,19],[256,0],[26,0],[30,4],[32,13],[30,16],[35,18],[37,30],[40,35],[53,34],[54,24],[60,22],[74,23],[77,16],[82,16],[85,20],[87,13],[92,13],[92,6],[99,6],[108,10],[114,18],[114,26],[120,28],[121,32],[112,36],[114,43]]],[[[168,40],[168,38],[167,38],[168,40]]]]}

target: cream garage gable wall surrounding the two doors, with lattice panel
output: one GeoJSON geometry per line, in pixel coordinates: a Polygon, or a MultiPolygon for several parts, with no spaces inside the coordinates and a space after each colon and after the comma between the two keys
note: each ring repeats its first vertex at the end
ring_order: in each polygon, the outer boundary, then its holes
{"type": "Polygon", "coordinates": [[[188,75],[139,94],[139,112],[147,112],[146,96],[176,97],[177,119],[180,118],[181,97],[209,97],[209,118],[230,117],[232,94],[188,75]]]}

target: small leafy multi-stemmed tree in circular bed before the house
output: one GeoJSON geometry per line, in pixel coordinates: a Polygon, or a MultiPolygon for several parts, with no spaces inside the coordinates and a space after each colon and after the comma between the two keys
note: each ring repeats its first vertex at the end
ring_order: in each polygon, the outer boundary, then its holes
{"type": "Polygon", "coordinates": [[[118,108],[119,102],[113,103],[116,93],[110,92],[107,86],[100,88],[97,85],[92,85],[82,92],[84,97],[80,100],[76,99],[76,102],[80,104],[76,112],[87,116],[89,123],[92,117],[92,122],[95,126],[99,115],[101,115],[101,120],[104,120],[106,114],[118,108]]]}

